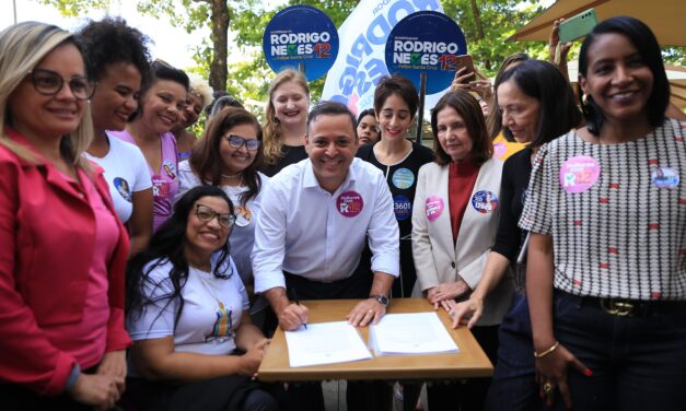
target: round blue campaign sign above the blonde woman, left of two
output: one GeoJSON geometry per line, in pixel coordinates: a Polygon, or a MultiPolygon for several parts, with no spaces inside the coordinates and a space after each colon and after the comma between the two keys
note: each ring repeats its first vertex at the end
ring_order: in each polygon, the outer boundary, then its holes
{"type": "Polygon", "coordinates": [[[338,56],[338,31],[332,19],[310,5],[291,5],[278,12],[263,37],[267,63],[277,73],[305,66],[313,81],[328,72],[338,56]]]}

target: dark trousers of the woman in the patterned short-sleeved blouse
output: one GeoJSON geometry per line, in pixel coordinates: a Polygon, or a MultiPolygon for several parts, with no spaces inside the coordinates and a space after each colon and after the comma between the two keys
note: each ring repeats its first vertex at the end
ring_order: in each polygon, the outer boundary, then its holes
{"type": "MultiPolygon", "coordinates": [[[[593,371],[568,369],[573,409],[686,409],[686,303],[624,317],[596,303],[555,293],[555,337],[593,371]]],[[[557,390],[555,409],[565,409],[557,390]]]]}

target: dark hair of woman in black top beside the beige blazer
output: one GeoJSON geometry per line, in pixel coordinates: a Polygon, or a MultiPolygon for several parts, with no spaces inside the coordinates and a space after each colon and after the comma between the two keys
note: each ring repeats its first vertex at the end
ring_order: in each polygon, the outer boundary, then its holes
{"type": "Polygon", "coordinates": [[[498,86],[508,81],[540,104],[532,146],[543,145],[580,126],[581,111],[574,93],[557,67],[547,61],[525,60],[503,72],[498,86]]]}

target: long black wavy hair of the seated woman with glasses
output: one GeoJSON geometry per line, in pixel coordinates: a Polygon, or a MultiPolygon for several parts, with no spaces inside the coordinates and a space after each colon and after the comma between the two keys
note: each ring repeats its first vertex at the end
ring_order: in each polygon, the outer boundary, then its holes
{"type": "MultiPolygon", "coordinates": [[[[221,188],[214,186],[195,187],[176,202],[174,213],[152,235],[150,246],[144,251],[131,257],[126,267],[126,313],[131,319],[140,318],[148,305],[165,301],[164,307],[166,308],[168,304],[178,298],[178,306],[174,314],[174,327],[176,327],[184,309],[184,297],[181,292],[188,280],[188,261],[184,255],[188,215],[190,215],[196,201],[202,197],[222,198],[229,204],[229,212],[233,214],[231,200],[221,188]],[[161,283],[153,282],[150,273],[167,262],[172,263],[168,280],[171,280],[174,291],[161,296],[153,296],[154,292],[144,292],[146,285],[152,285],[152,290],[162,286],[161,283]]],[[[229,263],[229,243],[226,242],[219,249],[219,258],[213,271],[214,277],[224,279],[231,277],[231,272],[224,273],[225,265],[229,263]]]]}

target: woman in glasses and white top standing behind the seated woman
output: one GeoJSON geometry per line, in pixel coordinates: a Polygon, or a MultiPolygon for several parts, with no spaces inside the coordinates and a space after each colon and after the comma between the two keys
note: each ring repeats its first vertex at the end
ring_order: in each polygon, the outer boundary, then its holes
{"type": "Polygon", "coordinates": [[[255,116],[242,108],[226,107],[210,119],[190,158],[178,165],[177,198],[207,184],[221,187],[235,206],[236,226],[229,244],[251,302],[255,221],[269,179],[257,171],[263,158],[261,141],[261,128],[255,116]]]}

